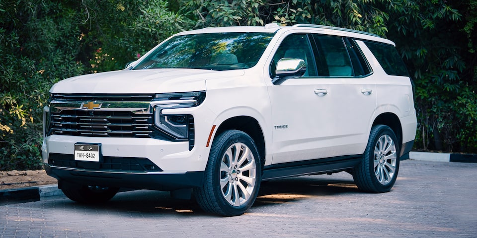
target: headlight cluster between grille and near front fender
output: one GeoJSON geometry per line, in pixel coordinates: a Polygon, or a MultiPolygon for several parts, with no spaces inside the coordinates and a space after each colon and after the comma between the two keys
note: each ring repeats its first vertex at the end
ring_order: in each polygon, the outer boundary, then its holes
{"type": "Polygon", "coordinates": [[[205,98],[205,92],[157,94],[151,102],[154,112],[154,125],[162,132],[176,139],[193,139],[193,118],[191,115],[167,115],[164,109],[190,108],[199,106],[205,98]]]}

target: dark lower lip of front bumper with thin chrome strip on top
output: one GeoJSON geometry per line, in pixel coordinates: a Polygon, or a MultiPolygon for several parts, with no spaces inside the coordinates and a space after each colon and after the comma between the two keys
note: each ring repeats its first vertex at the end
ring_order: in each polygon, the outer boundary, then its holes
{"type": "Polygon", "coordinates": [[[44,164],[46,173],[56,179],[104,187],[172,191],[202,186],[204,172],[120,172],[65,168],[44,164]]]}

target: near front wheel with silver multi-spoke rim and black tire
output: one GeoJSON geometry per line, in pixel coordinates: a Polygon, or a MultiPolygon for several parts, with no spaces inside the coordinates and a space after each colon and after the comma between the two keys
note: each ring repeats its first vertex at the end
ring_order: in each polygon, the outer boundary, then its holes
{"type": "Polygon", "coordinates": [[[212,143],[202,187],[194,189],[199,206],[222,216],[239,216],[255,201],[261,180],[261,163],[252,138],[227,130],[212,143]]]}

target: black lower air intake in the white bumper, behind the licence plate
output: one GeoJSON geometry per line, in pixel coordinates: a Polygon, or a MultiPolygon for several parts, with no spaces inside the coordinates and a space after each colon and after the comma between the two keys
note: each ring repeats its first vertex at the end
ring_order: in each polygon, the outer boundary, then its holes
{"type": "Polygon", "coordinates": [[[94,169],[118,172],[160,172],[158,166],[147,158],[103,156],[102,162],[75,161],[73,155],[50,153],[48,164],[75,169],[94,169]]]}

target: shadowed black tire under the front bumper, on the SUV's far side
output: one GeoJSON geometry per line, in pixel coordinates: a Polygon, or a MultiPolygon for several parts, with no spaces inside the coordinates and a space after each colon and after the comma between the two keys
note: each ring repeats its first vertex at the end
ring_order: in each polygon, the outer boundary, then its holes
{"type": "Polygon", "coordinates": [[[75,202],[95,204],[111,200],[119,191],[119,188],[86,186],[63,182],[61,190],[68,198],[75,202]]]}

